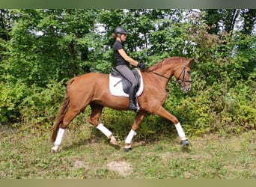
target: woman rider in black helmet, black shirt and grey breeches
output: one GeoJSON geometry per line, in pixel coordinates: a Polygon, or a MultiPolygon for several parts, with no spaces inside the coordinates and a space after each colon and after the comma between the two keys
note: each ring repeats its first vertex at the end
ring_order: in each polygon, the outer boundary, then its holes
{"type": "Polygon", "coordinates": [[[138,66],[141,69],[144,69],[145,66],[138,61],[133,60],[127,55],[126,50],[124,49],[124,42],[127,40],[127,30],[123,27],[115,28],[112,36],[115,38],[115,43],[113,45],[114,55],[115,55],[115,69],[121,73],[129,82],[132,83],[131,88],[129,88],[129,109],[137,110],[137,105],[135,104],[135,91],[138,85],[138,80],[135,79],[132,70],[129,69],[129,64],[133,66],[138,66]]]}

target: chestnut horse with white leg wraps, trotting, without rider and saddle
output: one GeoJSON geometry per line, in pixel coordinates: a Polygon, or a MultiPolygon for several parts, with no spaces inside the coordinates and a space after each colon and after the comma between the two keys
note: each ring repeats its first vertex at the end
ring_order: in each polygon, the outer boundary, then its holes
{"type": "MultiPolygon", "coordinates": [[[[191,62],[192,59],[171,57],[159,61],[146,70],[141,70],[144,91],[137,98],[140,110],[137,112],[132,129],[125,140],[125,151],[131,150],[132,138],[136,135],[135,131],[147,112],[171,120],[180,136],[180,144],[189,145],[177,117],[170,114],[162,105],[167,96],[166,86],[172,76],[175,76],[183,92],[190,91],[191,62]]],[[[70,79],[67,83],[66,96],[52,132],[52,142],[54,142],[52,152],[58,152],[67,125],[88,105],[91,106],[89,123],[103,132],[109,138],[110,143],[118,144],[112,132],[103,123],[100,123],[100,115],[104,106],[115,110],[129,110],[129,99],[124,96],[112,96],[109,92],[109,74],[86,73],[70,79]]]]}

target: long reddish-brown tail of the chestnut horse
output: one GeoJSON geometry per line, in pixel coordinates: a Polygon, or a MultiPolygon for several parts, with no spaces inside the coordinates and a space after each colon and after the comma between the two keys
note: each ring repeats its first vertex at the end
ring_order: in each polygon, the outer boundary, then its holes
{"type": "Polygon", "coordinates": [[[53,132],[52,132],[52,138],[51,138],[52,142],[55,141],[55,139],[57,137],[58,129],[60,128],[60,124],[63,122],[64,116],[67,113],[67,109],[69,108],[69,105],[70,105],[70,94],[69,94],[70,85],[72,84],[74,79],[75,78],[70,79],[70,81],[67,83],[65,99],[64,99],[64,102],[61,105],[61,110],[58,114],[58,117],[56,117],[56,119],[55,119],[55,126],[53,126],[53,132]]]}

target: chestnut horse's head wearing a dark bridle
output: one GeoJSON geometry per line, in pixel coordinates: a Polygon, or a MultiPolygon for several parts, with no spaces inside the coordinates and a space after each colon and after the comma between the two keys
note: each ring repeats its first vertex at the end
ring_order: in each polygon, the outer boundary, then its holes
{"type": "Polygon", "coordinates": [[[191,63],[192,59],[186,59],[174,70],[180,89],[185,93],[191,90],[191,63]]]}

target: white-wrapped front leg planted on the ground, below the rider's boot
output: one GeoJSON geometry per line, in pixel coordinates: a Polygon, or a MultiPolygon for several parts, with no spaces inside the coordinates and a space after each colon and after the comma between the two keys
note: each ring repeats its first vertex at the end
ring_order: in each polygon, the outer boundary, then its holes
{"type": "Polygon", "coordinates": [[[127,135],[127,138],[125,139],[125,146],[124,146],[125,152],[129,152],[130,150],[132,150],[132,147],[131,147],[132,138],[136,135],[136,130],[138,129],[138,126],[141,124],[141,121],[143,120],[145,114],[147,114],[147,111],[138,111],[135,117],[135,120],[132,124],[132,129],[127,135]]]}

